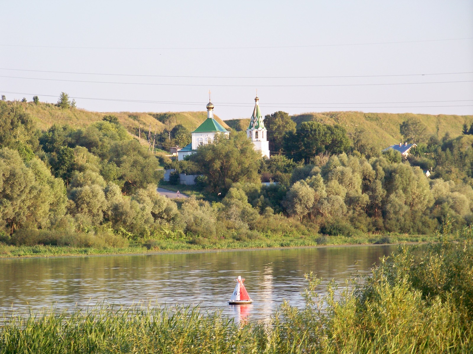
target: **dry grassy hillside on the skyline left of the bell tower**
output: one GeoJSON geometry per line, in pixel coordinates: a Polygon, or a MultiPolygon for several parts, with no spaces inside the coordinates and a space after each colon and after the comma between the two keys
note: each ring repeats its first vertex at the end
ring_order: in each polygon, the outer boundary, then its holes
{"type": "MultiPolygon", "coordinates": [[[[14,102],[9,102],[14,105],[14,102]]],[[[129,132],[134,132],[140,125],[142,129],[157,129],[163,131],[170,125],[182,124],[189,130],[197,128],[206,118],[207,112],[91,112],[82,109],[61,109],[52,103],[39,102],[37,105],[31,102],[16,102],[17,106],[22,106],[35,120],[38,128],[48,129],[53,124],[69,124],[79,128],[102,120],[107,114],[113,114],[120,120],[120,123],[127,128],[129,132]]],[[[228,125],[219,117],[214,118],[225,128],[228,125]]]]}

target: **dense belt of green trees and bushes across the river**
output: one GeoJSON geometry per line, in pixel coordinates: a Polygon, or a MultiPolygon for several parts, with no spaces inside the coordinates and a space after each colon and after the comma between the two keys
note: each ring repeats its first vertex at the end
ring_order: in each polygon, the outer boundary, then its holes
{"type": "MultiPolygon", "coordinates": [[[[406,141],[421,141],[404,160],[374,149],[362,129],[348,135],[340,125],[296,126],[285,112],[266,119],[271,149],[281,153],[269,160],[240,132],[171,161],[140,146],[113,115],[41,132],[21,106],[0,101],[1,238],[96,247],[168,238],[212,244],[319,231],[428,234],[447,215],[455,228],[473,221],[472,135],[427,137],[411,119],[400,130],[406,141]],[[197,186],[206,197],[157,194],[163,166],[201,174],[197,186]],[[434,178],[419,166],[433,169],[434,178]]],[[[158,136],[166,139],[181,145],[189,133],[177,125],[158,136]]]]}

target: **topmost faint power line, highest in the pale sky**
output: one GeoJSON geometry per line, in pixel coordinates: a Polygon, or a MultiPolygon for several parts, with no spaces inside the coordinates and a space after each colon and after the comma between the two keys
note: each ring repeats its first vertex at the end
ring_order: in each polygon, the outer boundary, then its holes
{"type": "Polygon", "coordinates": [[[307,44],[307,45],[285,45],[285,46],[256,46],[256,47],[80,47],[80,46],[55,46],[55,45],[28,45],[28,44],[0,44],[3,47],[25,47],[25,48],[57,48],[57,49],[114,49],[114,50],[226,50],[226,49],[278,49],[278,48],[316,48],[316,47],[343,47],[359,45],[379,44],[402,44],[422,42],[447,42],[470,40],[467,38],[431,39],[419,41],[396,41],[396,42],[366,42],[366,43],[340,43],[340,44],[307,44]]]}

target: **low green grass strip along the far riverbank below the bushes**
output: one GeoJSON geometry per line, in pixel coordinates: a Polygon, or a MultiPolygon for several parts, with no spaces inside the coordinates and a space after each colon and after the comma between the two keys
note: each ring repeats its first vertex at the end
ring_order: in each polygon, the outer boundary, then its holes
{"type": "Polygon", "coordinates": [[[266,235],[255,239],[208,239],[204,237],[175,238],[131,242],[127,247],[74,247],[56,245],[15,246],[0,242],[0,258],[11,257],[54,257],[105,254],[135,254],[179,251],[211,251],[275,247],[306,247],[350,244],[401,244],[431,241],[434,236],[426,235],[359,235],[359,236],[304,236],[266,235]]]}

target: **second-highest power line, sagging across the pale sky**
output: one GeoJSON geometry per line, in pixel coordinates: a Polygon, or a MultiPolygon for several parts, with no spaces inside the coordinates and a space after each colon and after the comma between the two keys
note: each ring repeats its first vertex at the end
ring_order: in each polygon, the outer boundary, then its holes
{"type": "Polygon", "coordinates": [[[73,72],[73,71],[8,69],[8,68],[3,68],[3,67],[0,67],[0,70],[27,71],[27,72],[35,72],[35,73],[52,73],[52,74],[75,74],[75,75],[136,76],[136,77],[184,77],[184,78],[219,78],[219,79],[303,79],[303,78],[395,77],[395,76],[459,75],[459,74],[472,74],[473,73],[473,71],[464,71],[464,72],[455,72],[455,73],[346,75],[346,76],[185,76],[185,75],[138,75],[138,74],[81,73],[81,72],[73,72]]]}

